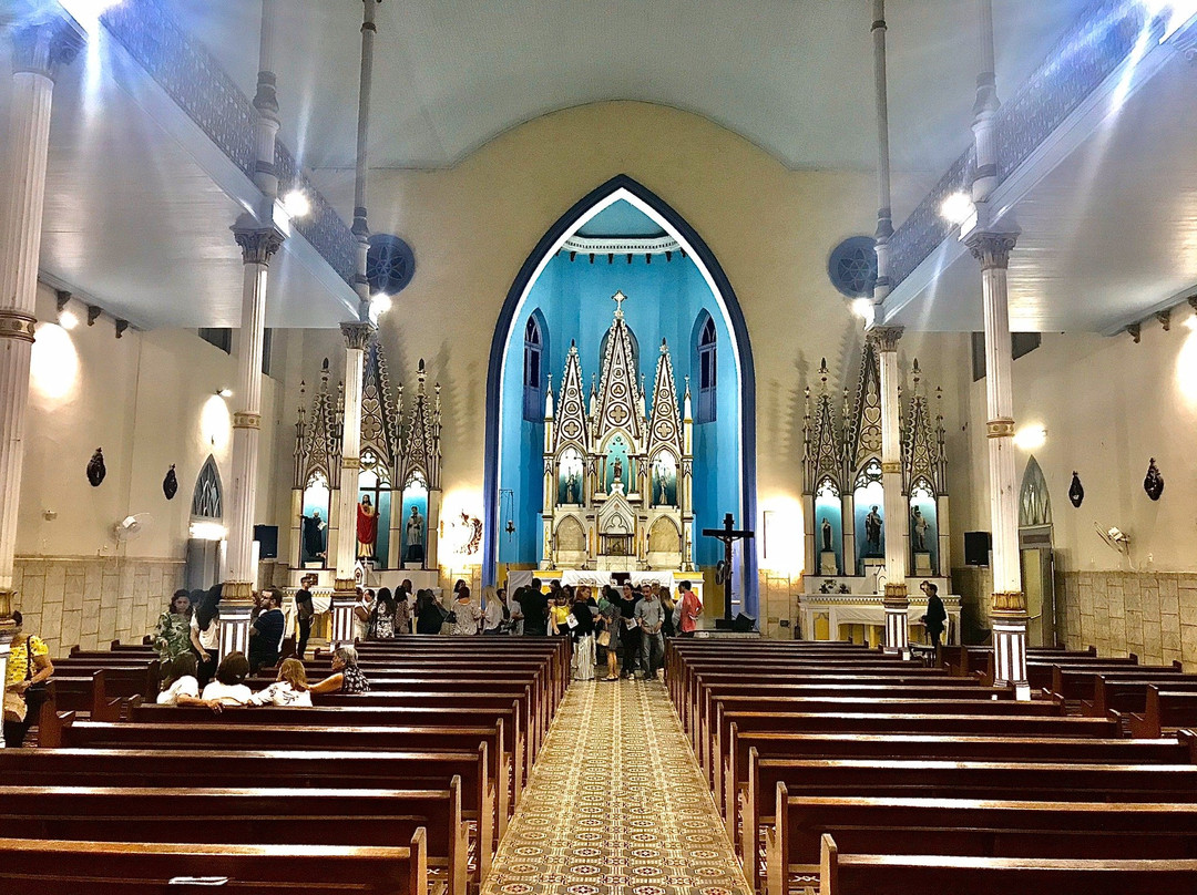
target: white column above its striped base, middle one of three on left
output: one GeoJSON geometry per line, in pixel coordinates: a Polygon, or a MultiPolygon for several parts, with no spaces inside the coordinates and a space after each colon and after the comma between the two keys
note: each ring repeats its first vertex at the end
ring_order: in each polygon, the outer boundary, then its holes
{"type": "Polygon", "coordinates": [[[254,572],[254,504],[257,498],[257,440],[262,425],[262,340],[266,280],[271,256],[282,245],[273,227],[251,226],[244,215],[233,236],[243,262],[242,311],[237,359],[237,398],[232,415],[232,488],[229,499],[229,553],[225,599],[249,599],[254,572]],[[242,226],[242,224],[247,226],[242,226]]]}

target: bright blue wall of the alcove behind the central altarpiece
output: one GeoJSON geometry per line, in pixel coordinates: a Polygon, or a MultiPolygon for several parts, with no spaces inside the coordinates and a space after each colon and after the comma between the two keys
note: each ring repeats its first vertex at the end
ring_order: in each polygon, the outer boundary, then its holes
{"type": "MultiPolygon", "coordinates": [[[[740,438],[740,384],[731,352],[731,337],[715,296],[698,268],[688,258],[674,254],[672,261],[643,255],[627,262],[607,256],[559,252],[545,267],[512,327],[506,346],[503,377],[504,419],[500,421],[499,450],[502,476],[499,487],[510,489],[514,500],[504,501],[499,523],[499,561],[536,562],[540,559],[542,500],[543,424],[523,420],[523,333],[531,313],[539,311],[548,328],[548,354],[545,370],[553,375],[554,398],[559,394],[561,373],[571,340],[577,342],[582,372],[589,392],[591,373],[598,373],[600,346],[615,311],[610,297],[616,291],[627,296],[624,316],[636,334],[640,348],[640,373],[651,392],[661,340],[669,343],[678,384],[678,401],[685,390],[683,377],[691,376],[697,406],[697,352],[694,323],[703,311],[715,319],[718,333],[718,392],[716,420],[694,427],[694,507],[695,532],[717,528],[723,513],[736,515],[740,523],[740,470],[736,446],[740,438]],[[514,506],[515,535],[506,526],[508,506],[514,506]]],[[[650,407],[651,410],[651,407],[650,407]]],[[[721,546],[695,535],[697,561],[713,565],[721,546]]]]}

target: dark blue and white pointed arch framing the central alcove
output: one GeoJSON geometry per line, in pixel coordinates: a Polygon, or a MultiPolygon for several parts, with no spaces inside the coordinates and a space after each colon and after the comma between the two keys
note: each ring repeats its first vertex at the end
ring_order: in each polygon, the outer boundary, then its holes
{"type": "MultiPolygon", "coordinates": [[[[504,418],[504,365],[508,361],[508,347],[512,337],[519,309],[528,297],[545,266],[552,260],[565,241],[603,208],[627,201],[645,215],[657,221],[693,260],[701,278],[710,287],[715,303],[722,312],[723,323],[730,333],[729,353],[736,372],[737,406],[735,431],[739,436],[736,445],[739,468],[739,520],[748,526],[757,525],[757,403],[755,370],[752,347],[748,340],[748,328],[740,309],[735,290],[731,287],[715,254],[693,227],[664,200],[626,175],[619,175],[603,183],[573,205],[541,237],[535,249],[527,257],[518,275],[508,291],[506,300],[499,313],[491,342],[490,366],[487,375],[486,401],[486,455],[484,485],[484,550],[482,576],[487,584],[494,583],[498,560],[498,517],[500,473],[500,421],[504,418]]],[[[749,615],[757,613],[757,552],[746,550],[743,556],[745,583],[742,608],[749,615]]]]}

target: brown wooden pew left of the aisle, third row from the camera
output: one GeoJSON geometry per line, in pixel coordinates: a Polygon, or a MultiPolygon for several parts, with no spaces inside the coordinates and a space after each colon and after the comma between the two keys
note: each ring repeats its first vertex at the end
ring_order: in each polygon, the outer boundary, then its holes
{"type": "Polygon", "coordinates": [[[175,786],[181,761],[192,789],[440,790],[457,777],[462,816],[478,824],[480,875],[490,871],[498,793],[485,744],[474,753],[294,751],[281,759],[253,750],[0,749],[0,779],[19,786],[175,786]]]}

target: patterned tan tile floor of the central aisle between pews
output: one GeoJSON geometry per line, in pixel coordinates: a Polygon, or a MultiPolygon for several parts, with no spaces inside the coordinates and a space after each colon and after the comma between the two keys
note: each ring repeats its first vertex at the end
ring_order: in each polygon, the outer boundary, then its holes
{"type": "Polygon", "coordinates": [[[482,895],[748,895],[661,683],[573,683],[482,895]]]}

